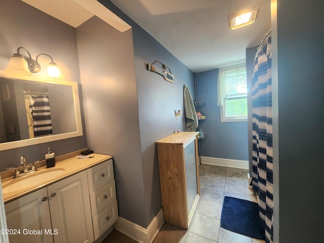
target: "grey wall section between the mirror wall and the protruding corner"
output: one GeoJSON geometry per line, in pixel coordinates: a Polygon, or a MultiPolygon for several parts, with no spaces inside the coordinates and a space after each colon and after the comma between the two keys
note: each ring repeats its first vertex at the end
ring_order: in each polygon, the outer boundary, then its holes
{"type": "Polygon", "coordinates": [[[113,156],[119,216],[145,226],[132,30],[93,17],[76,33],[88,146],[113,156]]]}

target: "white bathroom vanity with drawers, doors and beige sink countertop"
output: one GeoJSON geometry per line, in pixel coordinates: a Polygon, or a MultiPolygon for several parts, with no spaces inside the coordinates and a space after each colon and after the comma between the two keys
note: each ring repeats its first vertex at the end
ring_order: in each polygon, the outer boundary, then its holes
{"type": "Polygon", "coordinates": [[[90,243],[118,219],[110,155],[74,156],[23,178],[5,179],[2,186],[11,243],[90,243]]]}

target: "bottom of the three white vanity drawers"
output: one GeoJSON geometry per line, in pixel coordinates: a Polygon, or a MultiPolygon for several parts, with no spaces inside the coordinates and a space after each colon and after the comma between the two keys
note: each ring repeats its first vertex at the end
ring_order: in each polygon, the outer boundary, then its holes
{"type": "Polygon", "coordinates": [[[92,218],[95,240],[118,219],[117,200],[92,218]]]}

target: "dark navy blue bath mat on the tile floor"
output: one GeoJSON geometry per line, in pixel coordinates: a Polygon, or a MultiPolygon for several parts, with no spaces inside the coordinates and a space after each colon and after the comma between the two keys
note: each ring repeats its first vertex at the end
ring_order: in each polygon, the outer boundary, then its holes
{"type": "Polygon", "coordinates": [[[259,219],[259,205],[253,201],[225,196],[221,227],[256,239],[265,239],[259,219]]]}

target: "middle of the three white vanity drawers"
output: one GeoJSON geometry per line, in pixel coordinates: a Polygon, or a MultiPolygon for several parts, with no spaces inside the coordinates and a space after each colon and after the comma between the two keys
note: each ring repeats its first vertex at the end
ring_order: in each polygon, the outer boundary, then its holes
{"type": "Polygon", "coordinates": [[[95,216],[116,200],[115,180],[90,193],[91,214],[95,216]]]}

